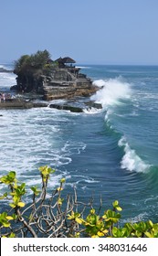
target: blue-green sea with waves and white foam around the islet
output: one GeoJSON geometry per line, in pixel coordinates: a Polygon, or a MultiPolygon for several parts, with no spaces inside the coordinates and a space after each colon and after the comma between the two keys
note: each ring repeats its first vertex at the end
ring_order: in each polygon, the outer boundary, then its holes
{"type": "MultiPolygon", "coordinates": [[[[28,187],[40,185],[37,168],[50,165],[48,191],[66,177],[64,193],[75,186],[79,200],[92,196],[97,208],[100,195],[105,209],[119,200],[123,221],[158,222],[158,67],[79,67],[100,91],[78,104],[93,100],[102,110],[0,110],[0,176],[15,170],[31,194],[28,187]]],[[[0,73],[0,91],[14,84],[16,75],[0,73]]]]}

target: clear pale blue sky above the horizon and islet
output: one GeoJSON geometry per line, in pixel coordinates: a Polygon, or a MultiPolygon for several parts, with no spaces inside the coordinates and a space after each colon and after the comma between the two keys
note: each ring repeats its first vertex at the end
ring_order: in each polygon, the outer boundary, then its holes
{"type": "Polygon", "coordinates": [[[83,64],[158,65],[157,0],[1,0],[0,62],[47,49],[83,64]]]}

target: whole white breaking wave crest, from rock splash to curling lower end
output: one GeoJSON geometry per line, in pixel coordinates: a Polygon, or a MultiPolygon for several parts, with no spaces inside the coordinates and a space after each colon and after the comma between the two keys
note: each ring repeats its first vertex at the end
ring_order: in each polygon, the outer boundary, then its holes
{"type": "Polygon", "coordinates": [[[91,98],[93,101],[101,103],[104,111],[106,111],[104,120],[107,125],[107,129],[111,129],[112,131],[115,131],[115,133],[119,134],[118,146],[123,149],[121,168],[129,171],[145,173],[149,170],[151,165],[145,164],[142,158],[136,154],[134,149],[131,148],[122,131],[120,131],[120,129],[118,130],[116,120],[113,123],[117,108],[120,105],[121,107],[126,107],[126,104],[124,104],[126,100],[128,103],[129,100],[131,100],[131,84],[123,80],[121,77],[110,80],[95,80],[94,84],[100,87],[100,91],[97,91],[91,98]],[[124,104],[124,106],[122,104],[124,104]]]}

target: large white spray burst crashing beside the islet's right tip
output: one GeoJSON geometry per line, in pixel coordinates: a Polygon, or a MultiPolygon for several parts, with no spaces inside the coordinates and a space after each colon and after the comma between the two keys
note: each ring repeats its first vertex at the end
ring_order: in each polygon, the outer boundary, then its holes
{"type": "Polygon", "coordinates": [[[122,80],[121,77],[110,80],[95,80],[93,83],[100,87],[100,91],[97,91],[91,99],[101,103],[103,108],[118,104],[121,99],[130,98],[130,84],[122,80]]]}

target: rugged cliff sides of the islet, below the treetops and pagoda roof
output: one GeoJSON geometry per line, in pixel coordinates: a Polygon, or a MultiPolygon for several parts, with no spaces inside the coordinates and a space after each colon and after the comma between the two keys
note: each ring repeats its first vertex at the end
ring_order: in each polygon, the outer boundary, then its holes
{"type": "Polygon", "coordinates": [[[91,80],[79,74],[76,68],[54,68],[48,74],[38,69],[35,73],[19,74],[16,81],[17,91],[34,91],[42,94],[45,100],[89,96],[97,91],[91,80]]]}

